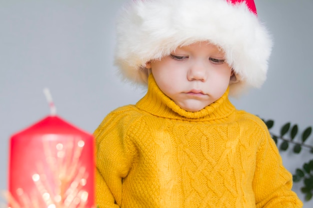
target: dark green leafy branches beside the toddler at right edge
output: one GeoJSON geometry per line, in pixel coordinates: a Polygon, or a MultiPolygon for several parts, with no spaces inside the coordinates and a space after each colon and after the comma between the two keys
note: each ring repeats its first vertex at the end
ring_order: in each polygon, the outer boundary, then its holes
{"type": "MultiPolygon", "coordinates": [[[[266,124],[268,129],[271,129],[274,125],[273,120],[267,120],[264,121],[264,123],[266,124]]],[[[270,135],[277,146],[278,139],[282,141],[278,147],[279,151],[286,151],[289,148],[289,144],[293,144],[292,152],[294,154],[299,154],[303,148],[313,154],[313,146],[305,143],[311,133],[312,127],[309,126],[304,129],[304,131],[300,134],[300,141],[295,141],[294,139],[298,135],[298,126],[296,124],[291,126],[290,122],[288,122],[280,128],[279,135],[273,134],[271,132],[270,135]]],[[[295,170],[295,174],[292,175],[292,180],[296,183],[300,181],[303,182],[301,192],[304,194],[304,199],[305,201],[311,200],[313,195],[313,159],[304,163],[301,168],[297,168],[295,170]]]]}

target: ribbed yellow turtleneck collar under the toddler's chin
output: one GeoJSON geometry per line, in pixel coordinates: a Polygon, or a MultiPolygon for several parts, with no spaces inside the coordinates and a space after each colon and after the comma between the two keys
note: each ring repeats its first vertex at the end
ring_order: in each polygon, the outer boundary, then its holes
{"type": "Polygon", "coordinates": [[[148,77],[148,90],[136,103],[136,107],[152,115],[178,120],[207,121],[222,119],[231,114],[235,107],[228,100],[229,87],[215,102],[197,112],[183,110],[167,97],[156,85],[152,74],[148,77]]]}

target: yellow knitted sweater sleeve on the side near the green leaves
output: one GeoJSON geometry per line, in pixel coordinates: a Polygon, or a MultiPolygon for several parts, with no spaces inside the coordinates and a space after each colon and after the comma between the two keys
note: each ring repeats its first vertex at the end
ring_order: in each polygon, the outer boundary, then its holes
{"type": "Polygon", "coordinates": [[[253,179],[256,208],[301,208],[302,202],[291,191],[292,175],[283,167],[276,144],[265,125],[264,140],[256,156],[253,179]]]}

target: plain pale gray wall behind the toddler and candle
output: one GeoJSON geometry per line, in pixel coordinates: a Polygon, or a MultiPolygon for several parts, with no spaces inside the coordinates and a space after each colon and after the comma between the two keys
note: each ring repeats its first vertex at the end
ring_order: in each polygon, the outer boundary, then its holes
{"type": "MultiPolygon", "coordinates": [[[[90,133],[109,111],[144,95],[121,83],[112,64],[114,19],[124,1],[0,0],[0,190],[6,189],[10,135],[49,113],[44,87],[58,115],[90,133]]],[[[286,122],[303,130],[313,125],[313,0],[255,4],[274,39],[268,79],[233,103],[274,119],[273,132],[286,122]]],[[[281,156],[291,173],[313,158],[305,151],[281,156]]],[[[300,186],[294,184],[293,190],[300,193],[300,186]]],[[[313,200],[304,208],[312,205],[313,200]]]]}

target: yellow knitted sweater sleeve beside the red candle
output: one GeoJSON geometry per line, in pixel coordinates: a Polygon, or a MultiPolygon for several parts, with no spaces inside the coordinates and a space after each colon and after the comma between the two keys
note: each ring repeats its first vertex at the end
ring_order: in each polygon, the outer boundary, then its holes
{"type": "Polygon", "coordinates": [[[122,179],[130,162],[124,147],[127,121],[119,112],[108,114],[94,131],[96,142],[96,205],[118,208],[122,199],[122,179]]]}

